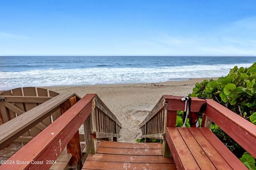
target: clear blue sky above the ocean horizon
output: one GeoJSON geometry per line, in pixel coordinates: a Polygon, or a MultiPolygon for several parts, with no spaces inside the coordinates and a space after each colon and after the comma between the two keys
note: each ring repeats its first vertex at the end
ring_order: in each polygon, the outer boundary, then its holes
{"type": "Polygon", "coordinates": [[[256,1],[0,1],[0,55],[256,56],[256,1]]]}

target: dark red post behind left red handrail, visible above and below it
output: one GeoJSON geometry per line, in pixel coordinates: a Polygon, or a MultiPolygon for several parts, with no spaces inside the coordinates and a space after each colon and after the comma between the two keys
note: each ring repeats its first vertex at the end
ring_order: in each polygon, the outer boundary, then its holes
{"type": "MultiPolygon", "coordinates": [[[[76,104],[76,96],[69,98],[61,105],[61,114],[65,113],[70,107],[76,104]]],[[[80,146],[79,130],[75,133],[73,138],[68,142],[67,152],[72,155],[69,166],[82,169],[82,152],[80,146]]]]}

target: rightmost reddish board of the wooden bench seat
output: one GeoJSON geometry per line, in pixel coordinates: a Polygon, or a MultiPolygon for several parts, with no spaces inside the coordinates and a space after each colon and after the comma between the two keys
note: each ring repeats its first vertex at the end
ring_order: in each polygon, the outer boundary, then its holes
{"type": "Polygon", "coordinates": [[[243,163],[208,128],[199,128],[199,130],[231,168],[246,169],[243,163]]]}

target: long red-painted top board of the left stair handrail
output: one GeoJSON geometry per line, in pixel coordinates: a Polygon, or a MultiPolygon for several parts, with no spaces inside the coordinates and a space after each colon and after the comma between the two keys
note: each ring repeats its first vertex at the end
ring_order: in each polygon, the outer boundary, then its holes
{"type": "MultiPolygon", "coordinates": [[[[63,94],[60,94],[55,98],[62,98],[62,95],[63,94]]],[[[44,162],[46,160],[56,160],[82,123],[91,114],[92,100],[94,97],[95,94],[83,97],[83,99],[79,100],[74,107],[68,109],[65,114],[50,124],[43,132],[39,133],[9,160],[41,160],[44,162]]],[[[47,101],[45,103],[47,103],[47,101]]],[[[50,167],[51,165],[49,164],[35,165],[30,162],[29,164],[22,165],[2,165],[0,166],[0,169],[49,169],[50,167]]]]}

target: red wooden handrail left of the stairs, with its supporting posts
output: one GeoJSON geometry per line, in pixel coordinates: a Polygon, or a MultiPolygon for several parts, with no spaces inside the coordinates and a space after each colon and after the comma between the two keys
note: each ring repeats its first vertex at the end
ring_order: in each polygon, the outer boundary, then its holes
{"type": "MultiPolygon", "coordinates": [[[[70,105],[72,106],[73,104],[70,105]]],[[[78,129],[84,123],[86,154],[95,153],[95,150],[97,150],[97,138],[95,138],[94,132],[97,132],[97,124],[95,123],[97,120],[95,117],[97,106],[101,106],[101,109],[108,112],[102,112],[102,114],[110,115],[113,120],[116,120],[113,133],[118,134],[119,131],[117,128],[121,128],[121,123],[119,123],[116,116],[111,113],[97,95],[89,94],[69,109],[68,107],[63,107],[63,114],[56,121],[50,124],[9,159],[9,162],[15,162],[15,164],[2,165],[0,169],[49,169],[51,164],[47,164],[47,160],[56,160],[66,146],[67,151],[74,155],[73,158],[76,161],[75,164],[77,167],[81,168],[81,149],[78,129]],[[16,163],[17,160],[25,164],[18,165],[16,163]],[[42,164],[34,164],[35,162],[42,164]]],[[[108,130],[111,132],[110,129],[108,130]]],[[[113,133],[111,133],[112,137],[114,137],[113,133]]]]}

